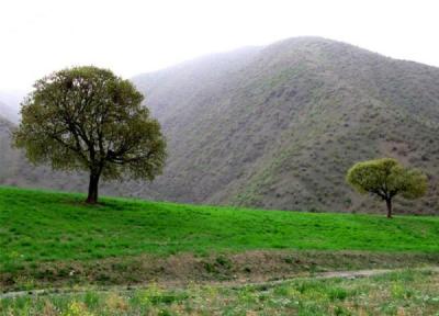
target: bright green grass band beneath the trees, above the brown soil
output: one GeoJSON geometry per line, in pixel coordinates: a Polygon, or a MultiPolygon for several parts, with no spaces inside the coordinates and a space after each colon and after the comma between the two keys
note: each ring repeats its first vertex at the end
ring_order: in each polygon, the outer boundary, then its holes
{"type": "Polygon", "coordinates": [[[0,264],[139,253],[316,249],[438,252],[439,218],[312,214],[0,188],[0,264]]]}

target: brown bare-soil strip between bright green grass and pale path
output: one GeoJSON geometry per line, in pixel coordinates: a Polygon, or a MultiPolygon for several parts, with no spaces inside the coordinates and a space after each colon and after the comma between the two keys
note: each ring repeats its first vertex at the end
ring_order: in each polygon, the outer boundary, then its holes
{"type": "MultiPolygon", "coordinates": [[[[40,262],[1,271],[0,293],[72,286],[136,286],[149,283],[212,284],[267,282],[328,271],[438,267],[439,253],[251,250],[169,257],[142,255],[85,261],[40,262]]],[[[329,272],[336,273],[336,272],[329,272]]]]}

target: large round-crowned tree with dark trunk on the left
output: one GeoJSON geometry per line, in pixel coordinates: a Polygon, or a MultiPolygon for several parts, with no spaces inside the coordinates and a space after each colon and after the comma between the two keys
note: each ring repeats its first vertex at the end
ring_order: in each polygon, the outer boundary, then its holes
{"type": "Polygon", "coordinates": [[[14,144],[34,163],[87,171],[87,202],[97,203],[101,178],[153,180],[161,172],[166,142],[143,99],[106,69],[54,72],[36,81],[23,102],[14,144]]]}

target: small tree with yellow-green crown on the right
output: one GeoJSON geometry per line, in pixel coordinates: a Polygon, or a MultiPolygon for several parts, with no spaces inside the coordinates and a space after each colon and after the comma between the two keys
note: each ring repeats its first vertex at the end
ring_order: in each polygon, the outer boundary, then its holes
{"type": "Polygon", "coordinates": [[[417,169],[404,168],[396,159],[381,158],[358,162],[349,169],[346,180],[360,193],[370,193],[385,201],[392,217],[392,199],[418,199],[427,191],[427,177],[417,169]]]}

